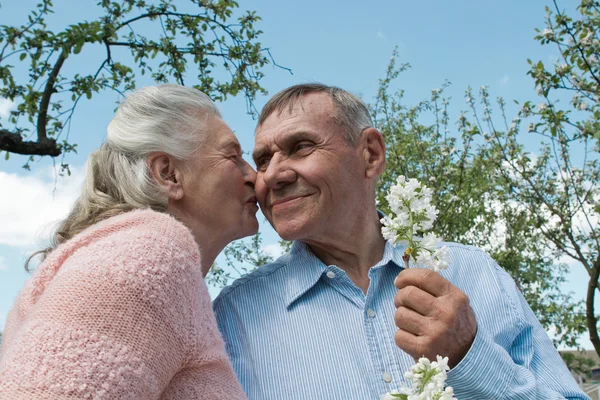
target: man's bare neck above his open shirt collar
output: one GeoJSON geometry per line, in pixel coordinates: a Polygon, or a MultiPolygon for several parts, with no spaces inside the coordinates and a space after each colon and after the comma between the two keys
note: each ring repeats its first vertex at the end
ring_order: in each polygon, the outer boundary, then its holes
{"type": "Polygon", "coordinates": [[[367,293],[369,270],[383,258],[385,239],[376,210],[355,220],[344,234],[330,235],[322,240],[304,241],[312,252],[326,265],[336,265],[344,270],[356,286],[367,293]]]}

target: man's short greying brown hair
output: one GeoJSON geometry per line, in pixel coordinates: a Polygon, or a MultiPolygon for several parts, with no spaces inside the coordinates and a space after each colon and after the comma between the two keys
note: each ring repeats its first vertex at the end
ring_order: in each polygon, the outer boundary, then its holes
{"type": "Polygon", "coordinates": [[[361,99],[344,89],[321,83],[294,85],[277,93],[263,107],[257,126],[261,126],[274,112],[281,115],[286,108],[291,112],[296,101],[310,93],[329,94],[333,101],[336,122],[345,128],[344,137],[349,143],[356,144],[361,132],[373,126],[369,110],[361,99]]]}

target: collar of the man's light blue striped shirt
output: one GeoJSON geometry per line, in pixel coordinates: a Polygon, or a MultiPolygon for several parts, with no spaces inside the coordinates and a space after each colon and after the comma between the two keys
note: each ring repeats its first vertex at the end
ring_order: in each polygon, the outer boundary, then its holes
{"type": "MultiPolygon", "coordinates": [[[[403,268],[403,254],[403,245],[397,244],[392,246],[386,242],[383,257],[371,268],[369,275],[375,270],[385,268],[390,262],[403,268]]],[[[328,266],[312,252],[308,245],[300,241],[294,241],[285,267],[288,275],[284,280],[286,308],[289,308],[296,300],[308,292],[328,269],[328,266]]]]}

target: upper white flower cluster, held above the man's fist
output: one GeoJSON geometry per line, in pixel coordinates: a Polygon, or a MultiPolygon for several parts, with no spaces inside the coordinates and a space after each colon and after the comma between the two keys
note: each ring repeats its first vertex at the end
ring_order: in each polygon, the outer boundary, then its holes
{"type": "Polygon", "coordinates": [[[403,259],[408,268],[412,258],[417,266],[439,271],[448,268],[448,248],[438,248],[441,240],[433,233],[422,238],[423,233],[433,227],[438,210],[431,204],[432,191],[416,179],[399,176],[386,200],[393,215],[381,219],[381,233],[392,245],[407,244],[403,259]]]}

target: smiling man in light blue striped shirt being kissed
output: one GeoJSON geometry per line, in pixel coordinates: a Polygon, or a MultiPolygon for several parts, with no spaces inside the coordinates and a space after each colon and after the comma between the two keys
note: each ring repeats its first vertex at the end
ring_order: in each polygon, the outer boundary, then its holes
{"type": "Polygon", "coordinates": [[[375,206],[385,145],[358,98],[283,90],[260,115],[253,157],[261,209],[294,243],[214,302],[250,399],[379,399],[438,354],[460,400],[587,398],[483,251],[449,243],[441,274],[403,270],[375,206]]]}

